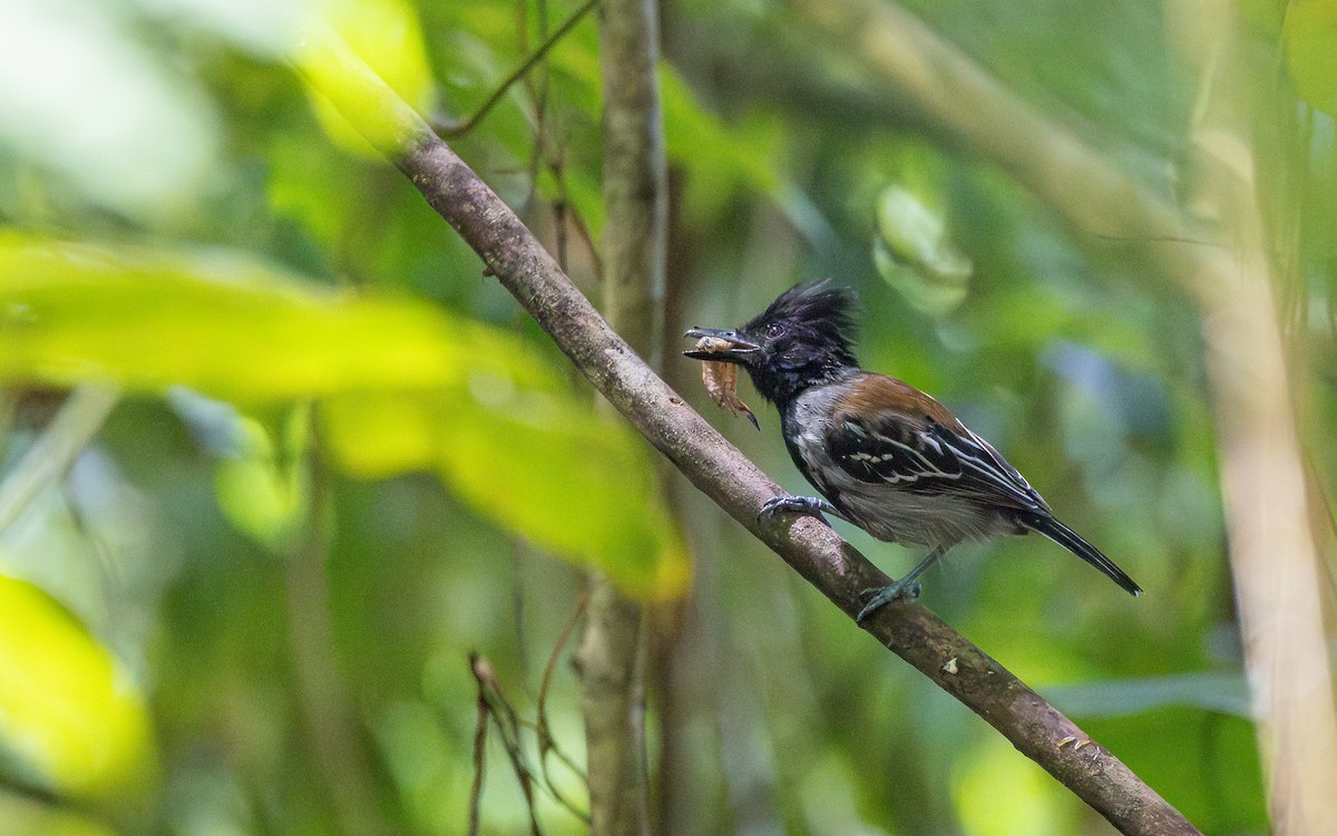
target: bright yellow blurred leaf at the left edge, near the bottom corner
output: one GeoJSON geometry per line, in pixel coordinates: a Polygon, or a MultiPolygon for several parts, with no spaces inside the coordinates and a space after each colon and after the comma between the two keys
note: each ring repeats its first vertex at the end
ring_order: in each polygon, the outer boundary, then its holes
{"type": "Polygon", "coordinates": [[[156,753],[134,681],[45,593],[0,577],[0,750],[7,766],[80,799],[152,787],[156,753]]]}

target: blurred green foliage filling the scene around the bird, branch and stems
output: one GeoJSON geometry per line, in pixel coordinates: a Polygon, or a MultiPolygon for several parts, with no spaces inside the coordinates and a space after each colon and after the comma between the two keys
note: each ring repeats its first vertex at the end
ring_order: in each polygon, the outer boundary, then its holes
{"type": "MultiPolygon", "coordinates": [[[[1267,118],[1242,123],[1326,560],[1337,76],[1306,56],[1332,54],[1337,12],[1318,5],[1233,20],[1265,68],[1266,108],[1241,110],[1267,118]]],[[[1197,209],[1189,7],[670,0],[663,373],[806,491],[774,411],[747,383],[761,432],[711,405],[675,334],[798,281],[857,288],[861,362],[948,404],[1147,590],[1017,538],[956,548],[923,601],[1205,832],[1267,832],[1202,300],[1146,257],[1150,227],[1075,229],[908,100],[832,24],[876,8],[1197,209]]],[[[318,11],[467,128],[452,147],[598,304],[596,13],[318,11]]],[[[0,832],[448,835],[476,807],[480,832],[520,833],[524,787],[541,832],[586,832],[590,564],[651,602],[655,832],[1110,832],[686,482],[656,491],[648,447],[303,87],[312,13],[3,4],[0,832]]],[[[923,556],[837,528],[893,575],[923,556]]]]}

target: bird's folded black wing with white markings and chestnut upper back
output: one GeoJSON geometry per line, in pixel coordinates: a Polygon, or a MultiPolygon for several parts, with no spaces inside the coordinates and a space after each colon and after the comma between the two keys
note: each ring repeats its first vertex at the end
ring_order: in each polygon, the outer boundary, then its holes
{"type": "Polygon", "coordinates": [[[860,482],[1048,511],[993,445],[900,380],[858,379],[833,411],[826,441],[836,463],[860,482]]]}

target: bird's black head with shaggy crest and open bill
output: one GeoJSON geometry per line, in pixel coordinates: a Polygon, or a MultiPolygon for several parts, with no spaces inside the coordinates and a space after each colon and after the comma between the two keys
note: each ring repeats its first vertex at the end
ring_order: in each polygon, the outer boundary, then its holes
{"type": "Polygon", "coordinates": [[[731,342],[718,350],[683,352],[694,360],[737,362],[770,401],[786,401],[858,362],[850,349],[858,297],[850,288],[821,280],[797,285],[735,329],[691,328],[686,337],[731,342]]]}

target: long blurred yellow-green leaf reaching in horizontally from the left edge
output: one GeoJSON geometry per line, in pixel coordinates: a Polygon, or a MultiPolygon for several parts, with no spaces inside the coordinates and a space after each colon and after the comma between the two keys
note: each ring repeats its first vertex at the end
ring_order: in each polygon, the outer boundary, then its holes
{"type": "Polygon", "coordinates": [[[275,401],[459,384],[465,362],[487,368],[509,345],[424,302],[332,293],[229,254],[0,237],[4,381],[275,401]]]}

